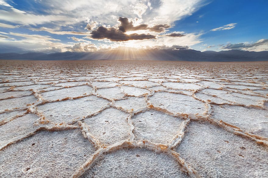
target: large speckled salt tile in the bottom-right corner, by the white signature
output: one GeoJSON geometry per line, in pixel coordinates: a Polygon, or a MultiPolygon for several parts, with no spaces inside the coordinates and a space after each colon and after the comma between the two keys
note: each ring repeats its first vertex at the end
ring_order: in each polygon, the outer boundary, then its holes
{"type": "Polygon", "coordinates": [[[268,167],[267,147],[208,123],[191,122],[177,152],[201,177],[251,177],[268,167]]]}

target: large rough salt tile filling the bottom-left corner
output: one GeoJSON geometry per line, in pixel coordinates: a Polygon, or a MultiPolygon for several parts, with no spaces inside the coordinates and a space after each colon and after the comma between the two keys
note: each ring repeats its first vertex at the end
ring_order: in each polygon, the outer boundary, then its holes
{"type": "Polygon", "coordinates": [[[94,151],[80,129],[39,131],[0,151],[0,177],[70,177],[94,151]]]}

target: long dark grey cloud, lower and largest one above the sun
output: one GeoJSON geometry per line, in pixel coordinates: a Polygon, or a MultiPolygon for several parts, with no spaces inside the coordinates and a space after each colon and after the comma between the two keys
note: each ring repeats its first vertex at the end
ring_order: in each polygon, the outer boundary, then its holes
{"type": "Polygon", "coordinates": [[[128,40],[143,40],[143,39],[156,39],[156,36],[150,34],[125,34],[119,29],[105,28],[99,26],[96,30],[91,32],[91,38],[93,39],[109,39],[111,41],[128,41],[128,40]]]}

